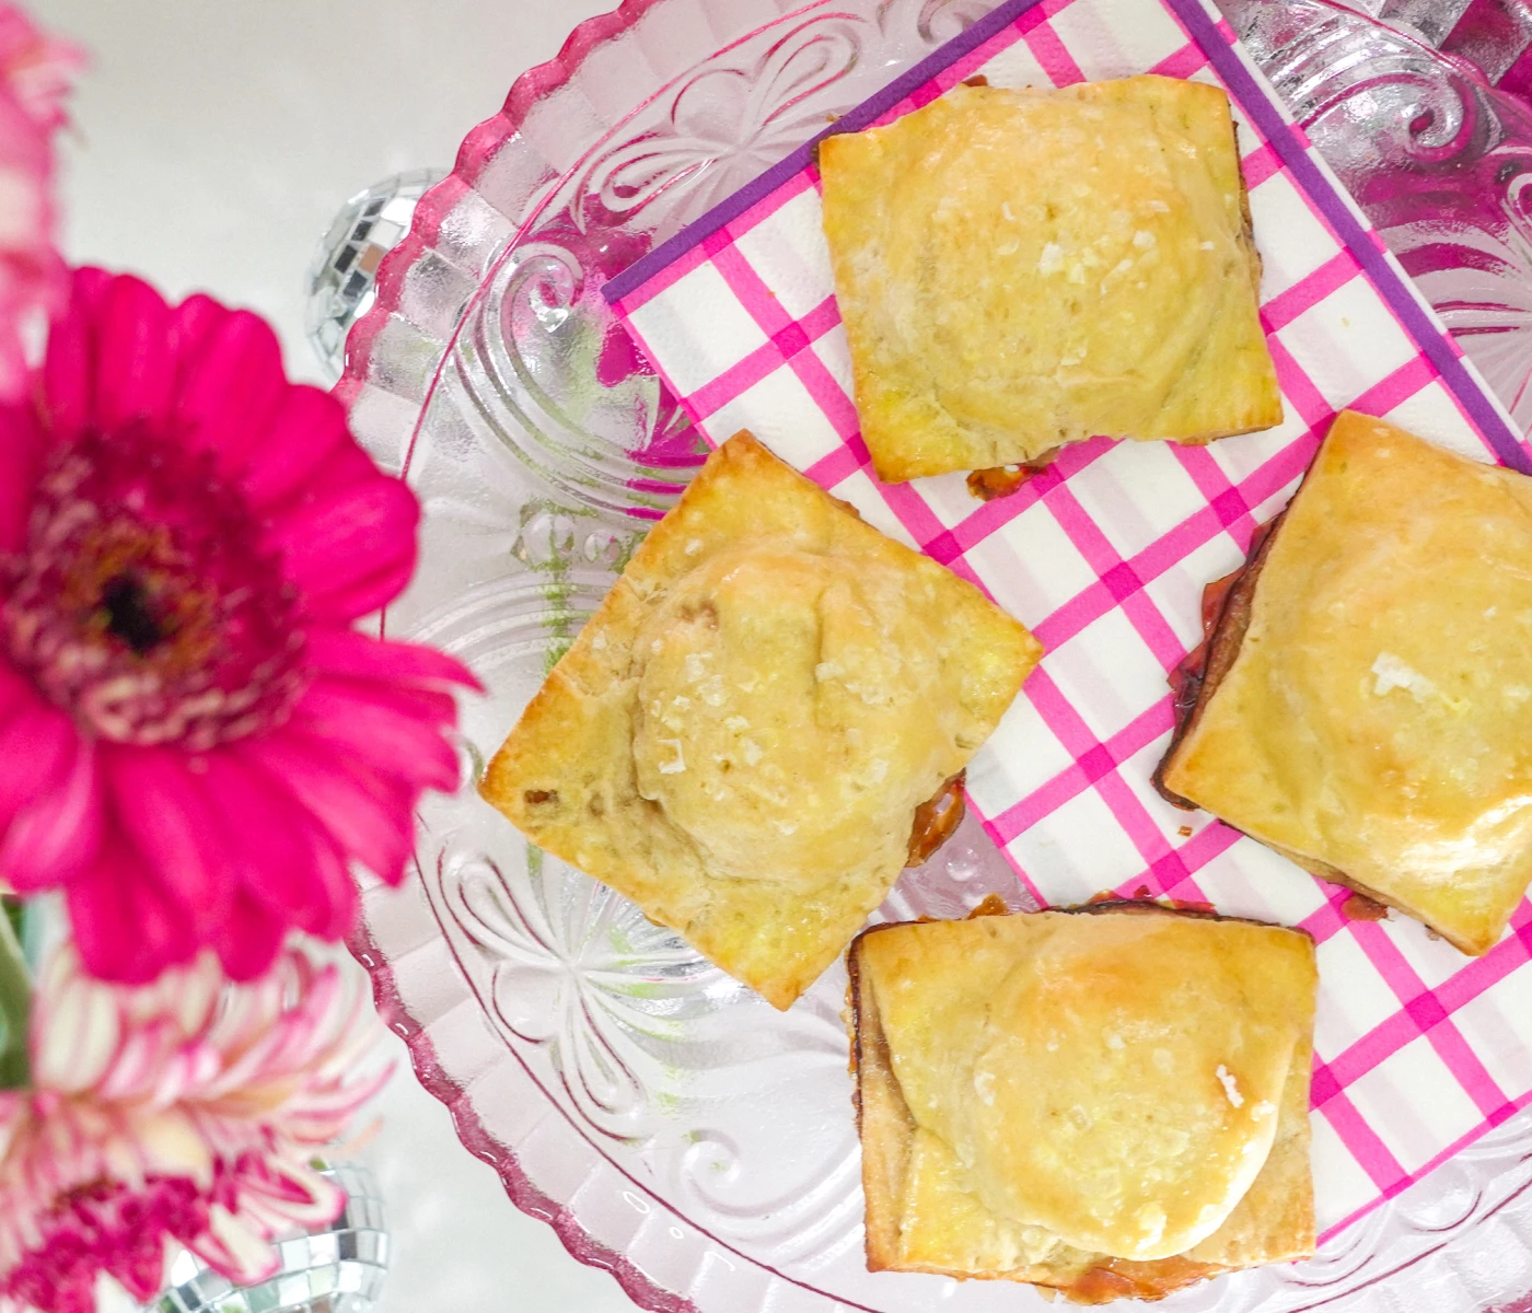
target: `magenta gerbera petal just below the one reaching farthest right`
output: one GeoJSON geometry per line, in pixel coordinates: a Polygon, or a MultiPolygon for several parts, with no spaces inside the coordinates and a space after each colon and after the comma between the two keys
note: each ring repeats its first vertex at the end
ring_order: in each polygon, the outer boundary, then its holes
{"type": "Polygon", "coordinates": [[[377,771],[452,792],[458,754],[438,726],[455,706],[447,694],[420,691],[420,697],[446,700],[446,708],[435,708],[440,719],[417,714],[403,691],[317,679],[293,709],[293,726],[377,771]]]}

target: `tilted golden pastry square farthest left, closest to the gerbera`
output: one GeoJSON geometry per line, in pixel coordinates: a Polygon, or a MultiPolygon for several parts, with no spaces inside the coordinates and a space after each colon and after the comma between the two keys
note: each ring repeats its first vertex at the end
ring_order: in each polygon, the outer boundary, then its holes
{"type": "Polygon", "coordinates": [[[480,792],[786,1008],[1042,647],[749,434],[715,450],[480,792]]]}

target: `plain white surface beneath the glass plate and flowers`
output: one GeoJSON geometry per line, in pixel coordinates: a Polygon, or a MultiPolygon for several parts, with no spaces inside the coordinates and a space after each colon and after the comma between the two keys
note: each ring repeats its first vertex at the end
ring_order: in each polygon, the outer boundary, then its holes
{"type": "MultiPolygon", "coordinates": [[[[336,210],[392,173],[450,165],[516,75],[611,0],[31,5],[92,58],[63,142],[66,256],[257,309],[288,371],[319,381],[302,283],[336,210]]],[[[510,1203],[391,1045],[398,1071],[363,1154],[394,1233],[383,1313],[631,1313],[611,1276],[510,1203]]]]}

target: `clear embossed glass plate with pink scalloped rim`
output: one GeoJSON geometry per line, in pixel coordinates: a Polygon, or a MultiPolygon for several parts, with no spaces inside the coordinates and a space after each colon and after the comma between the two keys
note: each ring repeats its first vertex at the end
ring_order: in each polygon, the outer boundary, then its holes
{"type": "MultiPolygon", "coordinates": [[[[1526,427],[1532,113],[1489,77],[1511,83],[1532,23],[1497,0],[1474,46],[1475,5],[1357,5],[1382,23],[1322,0],[1224,9],[1526,427]],[[1457,54],[1434,49],[1454,34],[1457,54]]],[[[466,708],[466,778],[700,463],[604,282],[990,8],[628,0],[521,77],[426,193],[337,391],[426,509],[388,631],[489,686],[466,708]]],[[[1007,1282],[864,1270],[843,970],[777,1013],[472,787],[420,821],[417,873],[366,892],[354,951],[464,1144],[578,1259],[666,1313],[1045,1307],[1007,1282]]],[[[965,824],[879,915],[962,915],[991,892],[1023,905],[965,824]]],[[[1311,1262],[1164,1307],[1527,1310],[1529,1186],[1523,1114],[1311,1262]]]]}

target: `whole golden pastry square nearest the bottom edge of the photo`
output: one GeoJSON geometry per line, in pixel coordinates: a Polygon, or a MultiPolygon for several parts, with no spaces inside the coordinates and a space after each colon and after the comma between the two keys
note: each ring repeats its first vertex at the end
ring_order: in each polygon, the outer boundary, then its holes
{"type": "Polygon", "coordinates": [[[1103,1304],[1313,1253],[1307,935],[1098,904],[849,964],[873,1272],[1103,1304]]]}

